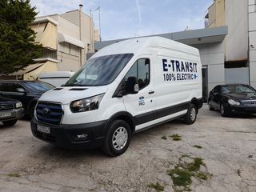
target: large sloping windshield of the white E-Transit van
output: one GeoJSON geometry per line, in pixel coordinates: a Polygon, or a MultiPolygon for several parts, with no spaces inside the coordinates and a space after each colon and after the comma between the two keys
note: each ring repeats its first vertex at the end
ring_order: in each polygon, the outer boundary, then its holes
{"type": "Polygon", "coordinates": [[[114,81],[134,54],[91,58],[64,86],[105,86],[114,81]]]}

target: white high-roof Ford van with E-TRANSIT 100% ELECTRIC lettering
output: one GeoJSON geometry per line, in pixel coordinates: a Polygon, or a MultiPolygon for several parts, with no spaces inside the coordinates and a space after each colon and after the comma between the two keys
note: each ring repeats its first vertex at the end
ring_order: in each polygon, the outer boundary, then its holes
{"type": "MultiPolygon", "coordinates": [[[[166,38],[134,38],[99,50],[62,87],[42,95],[35,137],[67,148],[123,154],[131,135],[202,107],[197,49],[166,38]]],[[[157,131],[157,130],[156,130],[157,131]]]]}

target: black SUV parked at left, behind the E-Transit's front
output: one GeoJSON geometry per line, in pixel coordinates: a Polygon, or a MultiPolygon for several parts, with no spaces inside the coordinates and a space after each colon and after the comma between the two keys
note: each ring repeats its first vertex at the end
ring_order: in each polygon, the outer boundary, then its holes
{"type": "Polygon", "coordinates": [[[19,80],[0,81],[0,96],[14,98],[22,102],[27,117],[34,116],[34,107],[38,98],[54,86],[46,82],[30,82],[19,80]]]}

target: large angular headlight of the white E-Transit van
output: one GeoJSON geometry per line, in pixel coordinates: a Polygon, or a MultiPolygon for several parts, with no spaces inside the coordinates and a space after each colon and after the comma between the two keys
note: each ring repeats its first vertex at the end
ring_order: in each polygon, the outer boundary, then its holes
{"type": "Polygon", "coordinates": [[[102,101],[104,94],[98,94],[91,98],[83,98],[70,103],[70,110],[73,113],[98,110],[99,103],[102,101]]]}

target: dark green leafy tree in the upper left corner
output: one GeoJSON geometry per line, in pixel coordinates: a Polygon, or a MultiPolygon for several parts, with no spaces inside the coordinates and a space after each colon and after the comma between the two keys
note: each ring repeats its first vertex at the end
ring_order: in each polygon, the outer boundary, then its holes
{"type": "Polygon", "coordinates": [[[11,74],[34,63],[42,54],[30,23],[38,14],[30,0],[0,0],[0,74],[11,74]]]}

